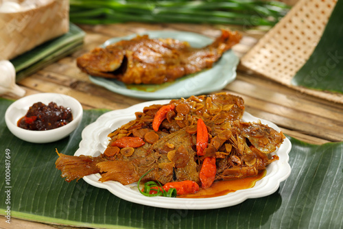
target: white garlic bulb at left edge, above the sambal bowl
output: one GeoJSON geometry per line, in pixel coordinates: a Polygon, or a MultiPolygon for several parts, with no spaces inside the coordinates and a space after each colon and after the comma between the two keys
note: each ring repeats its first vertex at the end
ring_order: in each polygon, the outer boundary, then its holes
{"type": "Polygon", "coordinates": [[[16,69],[8,60],[0,60],[0,95],[12,93],[19,97],[25,95],[25,90],[16,85],[16,69]]]}

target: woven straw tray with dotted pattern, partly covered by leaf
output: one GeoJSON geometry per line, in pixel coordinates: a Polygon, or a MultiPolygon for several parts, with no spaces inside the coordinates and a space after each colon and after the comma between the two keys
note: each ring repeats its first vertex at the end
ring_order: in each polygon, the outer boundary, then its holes
{"type": "Polygon", "coordinates": [[[318,44],[337,0],[300,0],[252,47],[241,64],[298,91],[343,104],[343,95],[291,84],[318,44]]]}

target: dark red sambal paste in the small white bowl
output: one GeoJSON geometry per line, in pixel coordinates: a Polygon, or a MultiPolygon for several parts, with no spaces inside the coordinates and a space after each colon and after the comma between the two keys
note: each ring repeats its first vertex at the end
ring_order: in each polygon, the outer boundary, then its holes
{"type": "Polygon", "coordinates": [[[26,130],[52,130],[67,125],[73,120],[71,108],[50,102],[48,106],[40,101],[32,105],[17,125],[26,130]]]}

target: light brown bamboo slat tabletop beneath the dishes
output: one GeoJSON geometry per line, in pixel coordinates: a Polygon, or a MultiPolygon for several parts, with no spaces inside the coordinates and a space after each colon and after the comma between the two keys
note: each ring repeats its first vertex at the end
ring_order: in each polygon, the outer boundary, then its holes
{"type": "MultiPolygon", "coordinates": [[[[143,99],[126,97],[93,84],[85,73],[75,65],[75,58],[82,53],[101,45],[108,38],[127,36],[145,30],[180,30],[198,32],[206,36],[220,35],[220,27],[214,25],[163,24],[149,25],[141,23],[81,26],[86,32],[84,47],[72,56],[51,64],[37,73],[21,80],[19,85],[27,93],[52,92],[70,95],[78,99],[84,109],[108,108],[112,110],[127,108],[143,102],[143,99]]],[[[243,56],[261,36],[260,31],[245,31],[241,43],[234,51],[243,56]]],[[[313,144],[343,141],[343,105],[334,104],[324,99],[302,94],[282,86],[260,75],[253,75],[239,66],[237,78],[228,84],[223,91],[228,91],[244,98],[246,111],[261,119],[267,119],[279,125],[281,130],[294,138],[313,144]]],[[[1,95],[9,99],[18,99],[12,95],[1,95]]],[[[13,219],[12,224],[0,221],[0,228],[71,228],[53,224],[40,224],[21,219],[13,219]]]]}

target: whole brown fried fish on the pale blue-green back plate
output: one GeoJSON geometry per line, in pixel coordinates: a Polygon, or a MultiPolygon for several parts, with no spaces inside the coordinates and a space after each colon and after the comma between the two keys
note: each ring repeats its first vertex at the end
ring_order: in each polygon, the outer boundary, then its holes
{"type": "Polygon", "coordinates": [[[77,65],[89,75],[126,84],[162,84],[213,67],[240,39],[241,34],[222,29],[222,36],[198,49],[184,41],[143,35],[97,47],[77,58],[77,65]]]}

